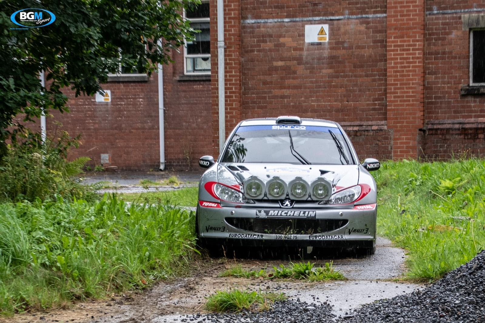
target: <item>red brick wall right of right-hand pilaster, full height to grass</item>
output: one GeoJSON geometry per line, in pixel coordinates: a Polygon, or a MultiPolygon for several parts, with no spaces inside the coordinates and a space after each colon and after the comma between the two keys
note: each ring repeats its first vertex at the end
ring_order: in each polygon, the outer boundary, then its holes
{"type": "Polygon", "coordinates": [[[484,7],[484,0],[426,2],[425,158],[485,152],[485,95],[460,95],[469,84],[469,31],[462,28],[461,13],[432,13],[484,7]]]}

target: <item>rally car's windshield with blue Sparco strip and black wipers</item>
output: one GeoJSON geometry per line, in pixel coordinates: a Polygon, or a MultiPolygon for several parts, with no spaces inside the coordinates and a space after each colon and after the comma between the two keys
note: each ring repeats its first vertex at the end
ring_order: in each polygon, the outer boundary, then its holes
{"type": "Polygon", "coordinates": [[[222,162],[354,164],[339,128],[304,125],[240,126],[222,162]]]}

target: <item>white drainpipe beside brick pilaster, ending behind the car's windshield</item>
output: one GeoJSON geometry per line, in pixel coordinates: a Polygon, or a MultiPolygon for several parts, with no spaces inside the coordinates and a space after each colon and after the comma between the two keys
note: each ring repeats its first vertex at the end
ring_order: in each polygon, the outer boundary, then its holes
{"type": "Polygon", "coordinates": [[[226,93],[224,79],[224,0],[217,0],[217,62],[219,89],[219,151],[226,142],[226,93]]]}

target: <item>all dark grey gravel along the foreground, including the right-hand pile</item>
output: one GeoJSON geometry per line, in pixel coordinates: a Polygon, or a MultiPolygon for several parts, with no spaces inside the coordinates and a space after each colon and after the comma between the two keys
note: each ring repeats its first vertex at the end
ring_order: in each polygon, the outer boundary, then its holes
{"type": "Polygon", "coordinates": [[[485,250],[424,290],[363,306],[337,318],[329,304],[300,299],[275,302],[260,313],[210,313],[182,316],[178,322],[197,323],[402,323],[484,322],[485,250]]]}

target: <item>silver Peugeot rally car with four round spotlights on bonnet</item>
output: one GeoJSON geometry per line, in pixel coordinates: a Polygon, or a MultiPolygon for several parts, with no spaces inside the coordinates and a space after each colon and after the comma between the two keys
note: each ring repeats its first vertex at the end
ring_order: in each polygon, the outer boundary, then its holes
{"type": "MultiPolygon", "coordinates": [[[[375,250],[376,185],[338,123],[295,116],[250,119],[230,134],[199,184],[199,244],[375,250]]],[[[305,250],[305,249],[304,249],[305,250]]]]}

